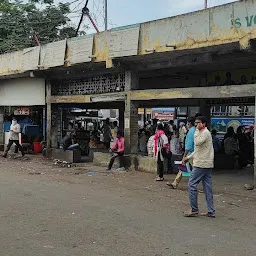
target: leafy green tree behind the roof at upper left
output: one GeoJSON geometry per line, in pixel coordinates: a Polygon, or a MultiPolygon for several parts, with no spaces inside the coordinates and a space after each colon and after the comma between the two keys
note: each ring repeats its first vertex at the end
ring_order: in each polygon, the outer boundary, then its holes
{"type": "Polygon", "coordinates": [[[54,0],[0,0],[0,53],[73,37],[68,3],[54,0]]]}

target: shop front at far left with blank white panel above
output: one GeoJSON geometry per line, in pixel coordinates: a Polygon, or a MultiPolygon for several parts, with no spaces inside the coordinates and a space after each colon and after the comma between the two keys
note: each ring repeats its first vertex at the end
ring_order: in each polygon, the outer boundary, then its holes
{"type": "Polygon", "coordinates": [[[45,140],[45,80],[18,78],[0,81],[1,144],[9,140],[12,118],[21,126],[20,142],[33,149],[45,140]]]}

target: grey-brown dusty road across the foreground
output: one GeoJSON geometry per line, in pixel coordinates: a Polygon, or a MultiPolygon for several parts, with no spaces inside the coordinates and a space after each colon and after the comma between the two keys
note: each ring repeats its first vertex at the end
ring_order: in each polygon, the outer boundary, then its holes
{"type": "Polygon", "coordinates": [[[50,169],[0,162],[1,256],[255,255],[255,202],[248,198],[216,195],[216,219],[187,219],[186,192],[147,183],[145,174],[50,169]]]}

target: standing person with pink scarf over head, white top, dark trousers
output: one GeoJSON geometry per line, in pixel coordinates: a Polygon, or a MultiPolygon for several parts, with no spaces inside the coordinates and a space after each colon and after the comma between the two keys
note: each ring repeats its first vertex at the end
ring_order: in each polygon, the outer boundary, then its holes
{"type": "Polygon", "coordinates": [[[162,123],[157,125],[157,132],[154,137],[154,156],[157,162],[157,178],[156,181],[164,180],[164,158],[167,157],[170,151],[168,138],[164,133],[162,123]]]}

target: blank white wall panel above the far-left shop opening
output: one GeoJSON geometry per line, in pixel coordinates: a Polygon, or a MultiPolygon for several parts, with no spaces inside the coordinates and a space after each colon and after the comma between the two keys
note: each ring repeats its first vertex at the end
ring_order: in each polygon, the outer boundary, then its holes
{"type": "Polygon", "coordinates": [[[45,105],[45,80],[17,78],[0,81],[0,106],[45,105]]]}

